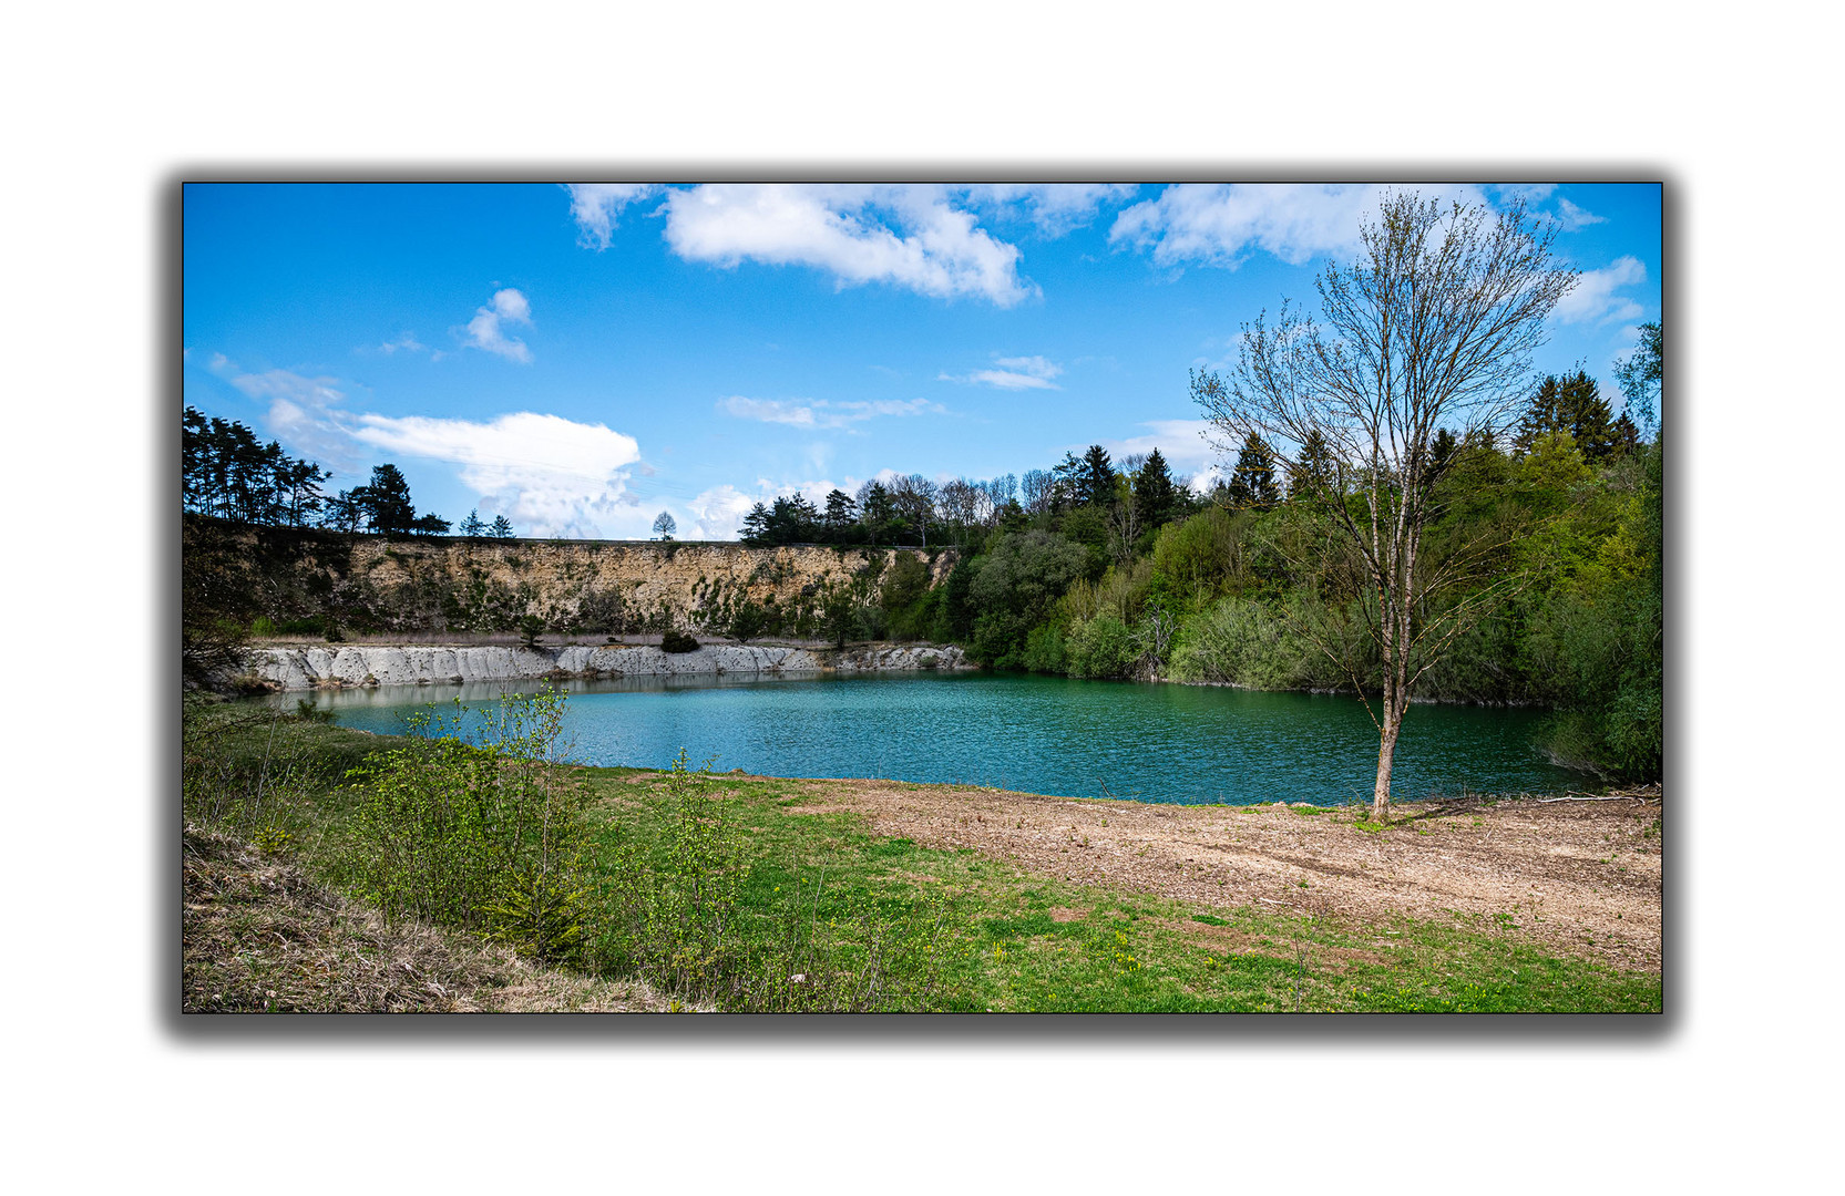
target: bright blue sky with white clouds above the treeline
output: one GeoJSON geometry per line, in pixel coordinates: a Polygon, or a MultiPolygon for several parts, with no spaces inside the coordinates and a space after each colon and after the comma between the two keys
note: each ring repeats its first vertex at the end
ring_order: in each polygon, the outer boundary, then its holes
{"type": "MultiPolygon", "coordinates": [[[[1066,450],[1214,457],[1186,391],[1312,300],[1375,184],[188,184],[184,400],[419,510],[731,538],[755,501],[1066,450]]],[[[1522,195],[1583,280],[1539,370],[1659,319],[1653,184],[1522,195]]]]}

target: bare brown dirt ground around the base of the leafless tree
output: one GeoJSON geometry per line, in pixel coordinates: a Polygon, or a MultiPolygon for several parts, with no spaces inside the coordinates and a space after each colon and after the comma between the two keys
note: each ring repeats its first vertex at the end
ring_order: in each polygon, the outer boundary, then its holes
{"type": "Polygon", "coordinates": [[[808,811],[1070,881],[1349,921],[1454,920],[1625,969],[1660,967],[1660,800],[1356,809],[1149,805],[904,781],[799,781],[808,811]],[[1304,883],[1304,885],[1303,885],[1304,883]]]}

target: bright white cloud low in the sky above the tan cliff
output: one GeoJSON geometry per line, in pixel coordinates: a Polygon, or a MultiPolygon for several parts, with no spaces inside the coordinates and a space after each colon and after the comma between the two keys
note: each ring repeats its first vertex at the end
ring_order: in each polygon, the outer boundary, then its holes
{"type": "Polygon", "coordinates": [[[642,516],[627,492],[640,446],[603,424],[518,411],[485,424],[430,416],[362,415],[351,437],[373,448],[461,466],[461,483],[482,509],[504,514],[535,536],[640,534],[642,516]]]}

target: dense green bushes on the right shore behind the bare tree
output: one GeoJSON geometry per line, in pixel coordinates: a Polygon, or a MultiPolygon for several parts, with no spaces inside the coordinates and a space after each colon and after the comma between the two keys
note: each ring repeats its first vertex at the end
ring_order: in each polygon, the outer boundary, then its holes
{"type": "MultiPolygon", "coordinates": [[[[1662,450],[1601,444],[1592,463],[1568,429],[1548,428],[1522,451],[1448,451],[1424,568],[1454,569],[1458,584],[1417,625],[1458,604],[1465,617],[1415,695],[1550,706],[1546,748],[1559,761],[1655,778],[1662,450]]],[[[1111,564],[1089,544],[1107,522],[1096,507],[1044,509],[963,558],[930,592],[930,617],[891,619],[891,630],[958,639],[996,669],[1373,693],[1375,599],[1334,520],[1304,501],[1207,505],[1111,564]]]]}

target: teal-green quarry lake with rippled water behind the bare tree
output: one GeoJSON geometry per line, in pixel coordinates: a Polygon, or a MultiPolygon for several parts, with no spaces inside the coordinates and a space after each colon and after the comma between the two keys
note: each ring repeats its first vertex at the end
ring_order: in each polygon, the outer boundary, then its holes
{"type": "MultiPolygon", "coordinates": [[[[312,695],[341,726],[397,733],[406,717],[491,686],[393,686],[312,695]]],[[[762,776],[889,778],[1068,798],[1177,803],[1369,800],[1378,737],[1351,697],[1089,682],[989,673],[561,682],[565,737],[590,765],[762,776]]],[[[273,698],[293,708],[301,695],[273,698]]],[[[1557,792],[1585,776],[1533,746],[1542,711],[1415,706],[1393,796],[1557,792]]]]}

